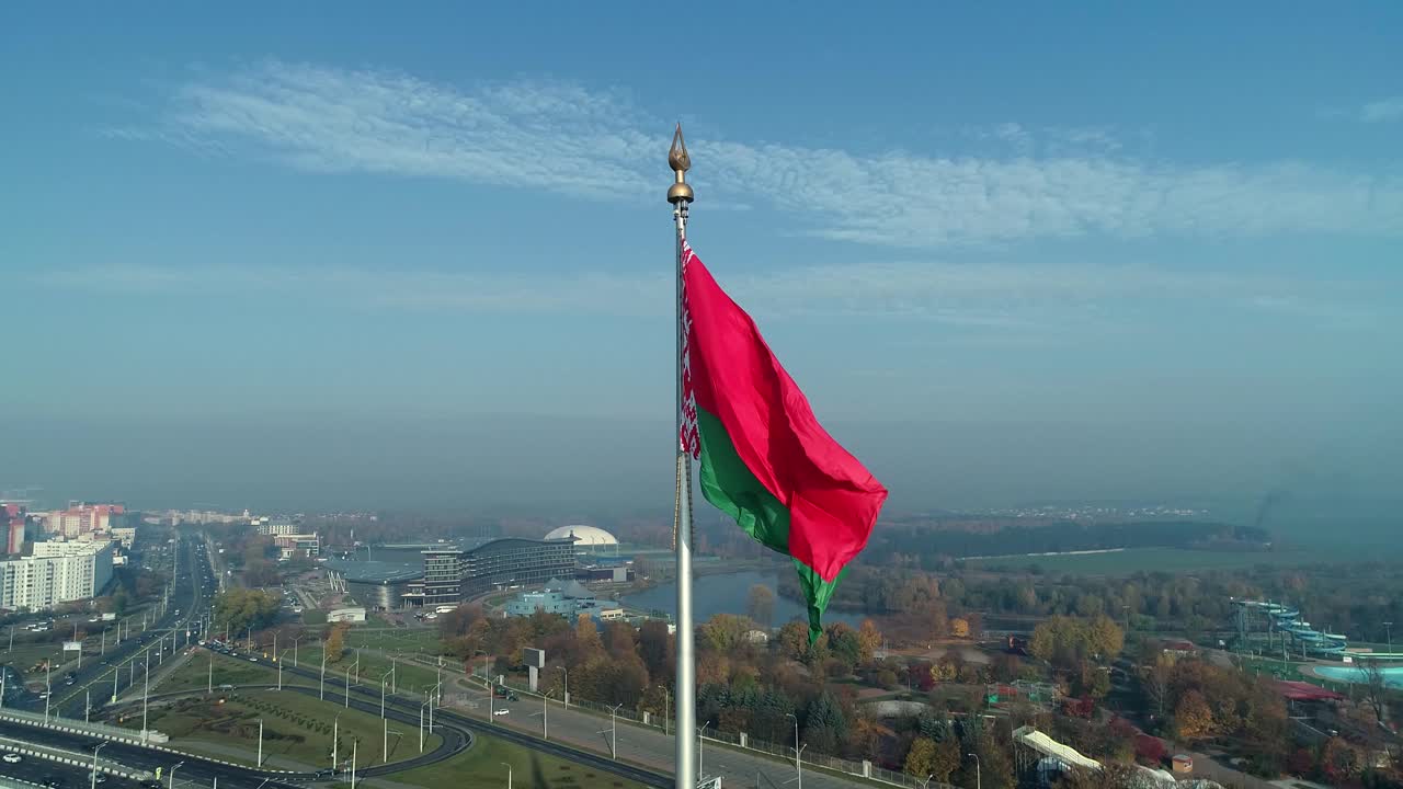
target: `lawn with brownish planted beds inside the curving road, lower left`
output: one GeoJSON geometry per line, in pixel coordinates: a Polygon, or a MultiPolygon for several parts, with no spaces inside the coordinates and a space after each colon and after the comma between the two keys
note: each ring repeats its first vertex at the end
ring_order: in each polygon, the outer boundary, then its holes
{"type": "MultiPolygon", "coordinates": [[[[208,665],[208,664],[206,664],[208,665]]],[[[251,764],[258,750],[258,719],[264,720],[264,757],[285,755],[307,765],[328,765],[331,737],[338,734],[342,758],[349,758],[352,740],[359,740],[359,765],[380,762],[380,719],[376,715],[345,709],[292,691],[227,691],[213,698],[178,699],[150,710],[150,726],[170,734],[171,744],[210,743],[236,747],[244,758],[224,752],[226,758],[251,764]],[[334,722],[340,716],[340,726],[334,722]]],[[[121,726],[140,729],[140,709],[128,709],[121,726]]],[[[414,724],[390,722],[390,761],[418,755],[414,724]]],[[[436,734],[427,737],[425,751],[438,747],[436,734]]]]}

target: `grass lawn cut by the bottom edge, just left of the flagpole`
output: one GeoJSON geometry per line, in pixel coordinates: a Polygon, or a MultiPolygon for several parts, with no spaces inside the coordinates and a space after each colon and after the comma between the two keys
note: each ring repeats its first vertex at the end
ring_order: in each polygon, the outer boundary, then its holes
{"type": "Polygon", "coordinates": [[[456,757],[398,772],[396,783],[427,789],[443,786],[506,786],[506,768],[512,765],[513,789],[641,789],[634,781],[581,767],[495,737],[480,736],[473,747],[456,757]]]}

